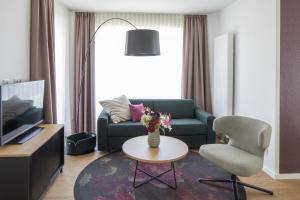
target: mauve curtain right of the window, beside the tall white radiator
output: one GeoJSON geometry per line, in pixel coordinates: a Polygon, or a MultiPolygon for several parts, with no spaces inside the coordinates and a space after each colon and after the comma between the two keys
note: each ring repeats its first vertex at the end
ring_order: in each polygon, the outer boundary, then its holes
{"type": "Polygon", "coordinates": [[[182,98],[212,111],[208,65],[207,16],[185,15],[183,28],[182,98]]]}

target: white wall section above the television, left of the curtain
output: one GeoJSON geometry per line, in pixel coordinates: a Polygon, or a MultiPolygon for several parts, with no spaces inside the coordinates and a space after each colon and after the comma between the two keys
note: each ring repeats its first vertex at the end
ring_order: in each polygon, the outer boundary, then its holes
{"type": "Polygon", "coordinates": [[[28,80],[30,0],[1,0],[0,27],[0,81],[28,80]]]}

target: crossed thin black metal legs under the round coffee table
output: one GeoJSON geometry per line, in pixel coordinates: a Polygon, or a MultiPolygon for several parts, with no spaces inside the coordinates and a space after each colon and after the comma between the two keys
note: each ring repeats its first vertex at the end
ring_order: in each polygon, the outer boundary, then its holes
{"type": "Polygon", "coordinates": [[[174,166],[174,162],[171,162],[171,168],[168,169],[167,171],[164,171],[158,175],[152,175],[150,174],[149,172],[146,172],[145,170],[143,169],[140,169],[138,167],[139,165],[139,161],[136,161],[136,164],[135,164],[135,171],[134,171],[134,179],[133,179],[133,187],[134,188],[139,188],[140,186],[142,185],[145,185],[146,183],[149,183],[151,182],[152,180],[157,180],[159,181],[160,183],[163,183],[165,185],[167,185],[169,188],[172,188],[173,190],[176,190],[177,189],[177,180],[176,180],[176,173],[175,173],[175,166],[174,166]],[[136,184],[136,174],[137,174],[137,171],[140,171],[144,174],[146,174],[147,176],[149,176],[150,178],[142,183],[139,183],[139,184],[136,184]],[[169,183],[165,182],[164,180],[160,179],[160,177],[168,172],[173,172],[173,177],[174,177],[174,186],[173,185],[170,185],[169,183]]]}

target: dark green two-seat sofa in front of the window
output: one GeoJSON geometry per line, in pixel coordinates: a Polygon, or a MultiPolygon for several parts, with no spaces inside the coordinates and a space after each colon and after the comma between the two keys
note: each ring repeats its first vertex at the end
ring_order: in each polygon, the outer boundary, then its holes
{"type": "MultiPolygon", "coordinates": [[[[215,119],[210,113],[194,107],[190,99],[130,99],[131,104],[143,103],[155,111],[171,113],[172,131],[166,135],[184,141],[190,148],[199,149],[202,144],[215,143],[212,130],[215,119]]],[[[136,136],[147,135],[141,122],[112,123],[108,113],[102,111],[97,120],[98,149],[110,151],[122,149],[122,144],[136,136]]]]}

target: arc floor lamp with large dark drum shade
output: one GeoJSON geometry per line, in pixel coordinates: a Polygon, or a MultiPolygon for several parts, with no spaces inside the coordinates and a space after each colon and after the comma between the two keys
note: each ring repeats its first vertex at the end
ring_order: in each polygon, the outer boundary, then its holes
{"type": "Polygon", "coordinates": [[[76,105],[76,121],[75,127],[76,131],[79,131],[79,105],[81,102],[81,94],[83,90],[83,81],[85,77],[84,66],[87,61],[87,56],[90,51],[91,43],[95,40],[96,33],[98,30],[107,22],[112,20],[121,20],[129,25],[131,25],[134,29],[126,32],[126,41],[125,41],[125,56],[158,56],[160,55],[160,44],[159,44],[159,32],[151,29],[138,29],[135,25],[129,22],[126,19],[114,17],[109,18],[102,22],[96,29],[95,33],[92,35],[87,50],[85,52],[84,59],[81,64],[81,76],[80,76],[80,85],[79,85],[79,93],[78,93],[78,101],[76,105]]]}

